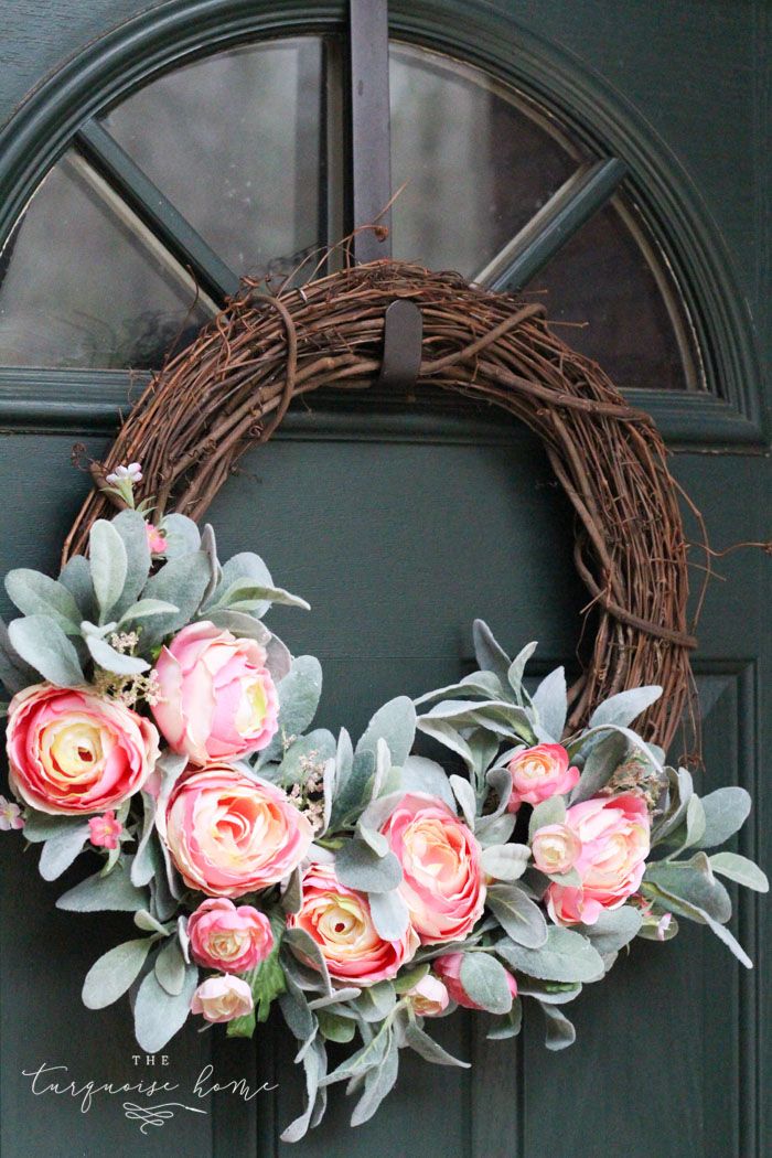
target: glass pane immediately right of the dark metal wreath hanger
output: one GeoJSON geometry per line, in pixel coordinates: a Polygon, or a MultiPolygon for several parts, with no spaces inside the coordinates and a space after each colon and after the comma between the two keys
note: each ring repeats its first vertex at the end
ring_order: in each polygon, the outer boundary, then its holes
{"type": "Polygon", "coordinates": [[[391,46],[394,256],[473,278],[579,167],[576,149],[477,68],[391,46]]]}

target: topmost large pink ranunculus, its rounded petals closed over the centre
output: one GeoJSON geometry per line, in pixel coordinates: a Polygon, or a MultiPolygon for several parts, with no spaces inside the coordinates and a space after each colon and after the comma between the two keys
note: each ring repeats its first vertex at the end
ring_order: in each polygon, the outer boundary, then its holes
{"type": "Polygon", "coordinates": [[[267,747],[279,699],[265,661],[255,639],[237,639],[208,621],[183,628],[155,665],[153,714],[169,747],[194,764],[267,747]]]}

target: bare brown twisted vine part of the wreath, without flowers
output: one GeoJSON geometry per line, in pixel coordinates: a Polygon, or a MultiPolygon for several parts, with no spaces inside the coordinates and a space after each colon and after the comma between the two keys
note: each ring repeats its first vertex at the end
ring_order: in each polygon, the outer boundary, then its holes
{"type": "MultiPolygon", "coordinates": [[[[668,747],[691,689],[686,543],[678,489],[652,418],[630,406],[593,361],[550,329],[541,305],[470,286],[454,273],[376,262],[275,296],[250,279],[191,346],[154,376],[97,484],[139,460],[155,516],[200,519],[238,459],[266,442],[293,398],[362,389],[380,373],[385,309],[407,298],[424,320],[414,394],[441,388],[490,403],[541,439],[576,514],[574,560],[594,614],[594,645],[571,689],[569,727],[641,684],[664,694],[642,734],[668,747]]],[[[432,391],[435,396],[436,391],[432,391]]],[[[64,558],[83,551],[109,498],[91,493],[64,558]]]]}

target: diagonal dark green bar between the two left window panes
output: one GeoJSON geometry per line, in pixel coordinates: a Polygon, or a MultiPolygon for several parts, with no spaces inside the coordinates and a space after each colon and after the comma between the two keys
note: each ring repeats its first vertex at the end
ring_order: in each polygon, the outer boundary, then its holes
{"type": "Polygon", "coordinates": [[[238,277],[103,125],[87,122],[78,131],[75,145],[179,264],[190,270],[205,293],[222,303],[238,290],[238,277]]]}

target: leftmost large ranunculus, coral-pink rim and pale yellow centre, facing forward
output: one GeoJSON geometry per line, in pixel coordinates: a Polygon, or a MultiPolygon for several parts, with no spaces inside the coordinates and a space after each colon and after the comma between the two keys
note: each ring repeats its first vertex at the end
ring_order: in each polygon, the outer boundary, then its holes
{"type": "Polygon", "coordinates": [[[9,783],[47,813],[104,812],[142,787],[159,757],[159,733],[115,699],[37,683],[8,709],[9,783]]]}

